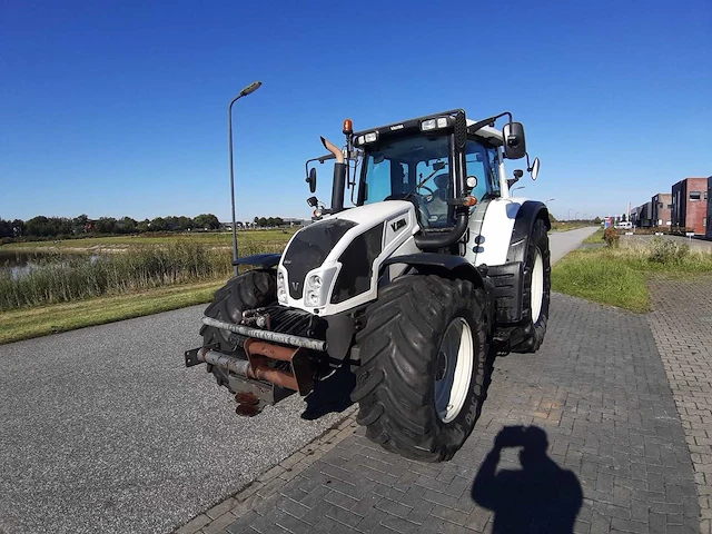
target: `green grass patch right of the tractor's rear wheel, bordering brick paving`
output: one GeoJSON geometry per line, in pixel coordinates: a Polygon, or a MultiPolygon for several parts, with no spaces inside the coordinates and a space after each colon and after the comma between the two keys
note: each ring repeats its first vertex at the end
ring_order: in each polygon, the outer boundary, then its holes
{"type": "Polygon", "coordinates": [[[625,248],[574,250],[553,267],[552,289],[646,313],[652,309],[647,289],[652,275],[690,278],[701,273],[712,273],[712,253],[654,240],[625,248]]]}

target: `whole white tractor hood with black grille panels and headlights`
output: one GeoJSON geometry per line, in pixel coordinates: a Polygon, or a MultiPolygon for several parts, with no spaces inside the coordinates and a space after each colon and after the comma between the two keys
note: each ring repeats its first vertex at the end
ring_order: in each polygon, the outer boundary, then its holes
{"type": "Polygon", "coordinates": [[[279,304],[330,315],[374,298],[380,263],[418,230],[413,204],[340,211],[297,231],[277,271],[279,304]]]}

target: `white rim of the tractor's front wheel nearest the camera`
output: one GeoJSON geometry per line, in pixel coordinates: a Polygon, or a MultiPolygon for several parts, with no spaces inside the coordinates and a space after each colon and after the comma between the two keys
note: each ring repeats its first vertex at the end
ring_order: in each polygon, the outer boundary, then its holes
{"type": "Polygon", "coordinates": [[[437,354],[438,376],[435,380],[435,408],[443,423],[449,423],[465,405],[472,367],[474,345],[472,330],[462,317],[454,319],[443,336],[437,354]]]}

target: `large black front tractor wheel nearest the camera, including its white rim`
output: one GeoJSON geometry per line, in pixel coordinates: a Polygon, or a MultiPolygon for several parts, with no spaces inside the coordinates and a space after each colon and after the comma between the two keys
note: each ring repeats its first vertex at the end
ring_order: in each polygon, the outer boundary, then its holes
{"type": "Polygon", "coordinates": [[[380,290],[356,335],[352,399],[366,436],[405,457],[453,457],[479,416],[488,318],[471,281],[409,275],[380,290]]]}

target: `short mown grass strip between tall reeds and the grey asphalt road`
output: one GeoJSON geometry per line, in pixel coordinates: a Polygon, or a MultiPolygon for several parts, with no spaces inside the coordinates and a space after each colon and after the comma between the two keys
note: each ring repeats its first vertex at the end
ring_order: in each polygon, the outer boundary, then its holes
{"type": "Polygon", "coordinates": [[[225,280],[176,285],[128,295],[0,312],[0,345],[209,303],[224,284],[225,280]]]}

